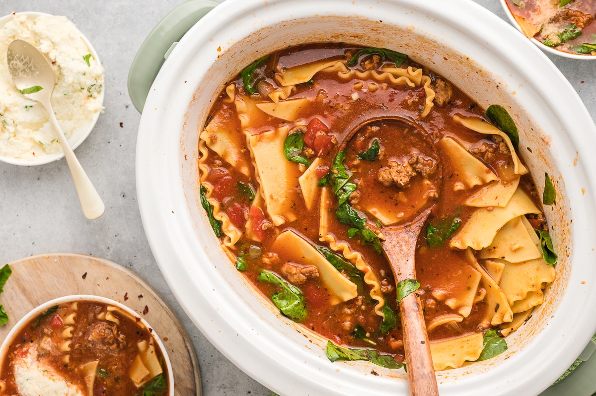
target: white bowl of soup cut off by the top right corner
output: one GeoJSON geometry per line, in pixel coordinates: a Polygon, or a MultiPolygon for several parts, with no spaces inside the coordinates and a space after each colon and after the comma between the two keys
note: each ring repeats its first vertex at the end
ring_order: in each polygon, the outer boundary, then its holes
{"type": "Polygon", "coordinates": [[[501,0],[507,17],[543,51],[565,58],[596,59],[596,2],[501,0]]]}

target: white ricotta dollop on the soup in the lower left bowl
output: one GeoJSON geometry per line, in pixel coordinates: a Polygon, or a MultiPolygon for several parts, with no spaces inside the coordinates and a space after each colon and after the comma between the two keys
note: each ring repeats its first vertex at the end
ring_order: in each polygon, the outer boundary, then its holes
{"type": "Polygon", "coordinates": [[[73,383],[38,359],[36,347],[17,351],[14,381],[21,396],[85,396],[73,383]]]}

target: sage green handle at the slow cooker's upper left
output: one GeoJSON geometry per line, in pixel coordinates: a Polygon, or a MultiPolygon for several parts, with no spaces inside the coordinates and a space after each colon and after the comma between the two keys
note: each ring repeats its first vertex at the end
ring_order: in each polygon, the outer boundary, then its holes
{"type": "Polygon", "coordinates": [[[172,49],[188,29],[217,5],[219,3],[213,0],[187,0],[151,30],[128,71],[128,95],[139,113],[142,113],[153,80],[172,49]]]}

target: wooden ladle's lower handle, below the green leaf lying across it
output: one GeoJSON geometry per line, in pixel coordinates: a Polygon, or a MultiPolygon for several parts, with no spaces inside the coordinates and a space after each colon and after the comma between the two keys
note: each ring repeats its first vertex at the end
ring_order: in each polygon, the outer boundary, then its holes
{"type": "Polygon", "coordinates": [[[414,292],[399,303],[402,316],[403,346],[406,351],[408,388],[411,396],[438,396],[429,337],[420,304],[414,292]]]}

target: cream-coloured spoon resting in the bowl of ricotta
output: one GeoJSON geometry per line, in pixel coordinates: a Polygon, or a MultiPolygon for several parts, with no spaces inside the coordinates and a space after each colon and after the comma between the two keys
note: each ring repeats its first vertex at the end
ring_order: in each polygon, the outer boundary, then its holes
{"type": "Polygon", "coordinates": [[[35,46],[23,40],[14,40],[8,46],[8,70],[13,77],[14,85],[29,99],[38,101],[48,112],[49,120],[58,135],[58,141],[64,151],[64,157],[70,167],[75,181],[77,194],[83,214],[87,219],[97,219],[105,211],[104,202],[97,194],[95,187],[77,160],[64,132],[58,125],[50,98],[56,84],[54,70],[47,58],[35,46]]]}

